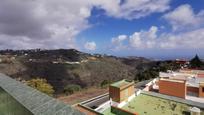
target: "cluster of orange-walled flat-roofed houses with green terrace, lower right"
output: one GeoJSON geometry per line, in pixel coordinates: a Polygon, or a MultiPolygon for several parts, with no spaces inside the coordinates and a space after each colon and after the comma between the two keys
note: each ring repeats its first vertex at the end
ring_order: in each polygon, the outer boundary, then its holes
{"type": "Polygon", "coordinates": [[[109,95],[87,100],[77,105],[77,108],[91,115],[143,113],[202,115],[204,71],[181,69],[177,72],[160,72],[158,78],[143,82],[139,86],[132,81],[121,80],[109,86],[109,95]],[[153,102],[148,102],[152,100],[153,102]],[[145,108],[149,105],[150,108],[145,108]]]}

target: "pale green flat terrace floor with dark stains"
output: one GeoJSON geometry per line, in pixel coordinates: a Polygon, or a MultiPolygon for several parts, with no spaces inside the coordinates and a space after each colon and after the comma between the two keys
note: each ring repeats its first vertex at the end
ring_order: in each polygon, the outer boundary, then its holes
{"type": "MultiPolygon", "coordinates": [[[[185,115],[190,107],[183,103],[140,94],[122,108],[137,112],[139,115],[185,115]]],[[[106,109],[103,114],[114,115],[110,108],[106,109]]],[[[201,115],[204,113],[202,112],[201,115]]]]}

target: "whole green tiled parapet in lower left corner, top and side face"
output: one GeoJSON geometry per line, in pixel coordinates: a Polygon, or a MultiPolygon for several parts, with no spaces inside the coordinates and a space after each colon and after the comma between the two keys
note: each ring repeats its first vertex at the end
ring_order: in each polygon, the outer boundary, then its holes
{"type": "Polygon", "coordinates": [[[44,93],[0,73],[0,115],[84,115],[44,93]]]}

